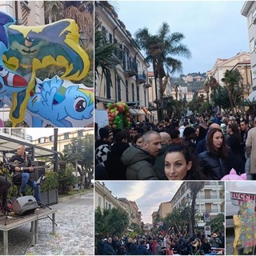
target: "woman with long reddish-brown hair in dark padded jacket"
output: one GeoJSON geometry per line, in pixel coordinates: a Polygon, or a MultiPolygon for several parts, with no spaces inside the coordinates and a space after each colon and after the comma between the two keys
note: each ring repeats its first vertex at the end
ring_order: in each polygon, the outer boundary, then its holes
{"type": "Polygon", "coordinates": [[[203,173],[210,179],[220,180],[230,173],[230,154],[222,130],[212,128],[206,137],[206,151],[198,154],[203,173]]]}

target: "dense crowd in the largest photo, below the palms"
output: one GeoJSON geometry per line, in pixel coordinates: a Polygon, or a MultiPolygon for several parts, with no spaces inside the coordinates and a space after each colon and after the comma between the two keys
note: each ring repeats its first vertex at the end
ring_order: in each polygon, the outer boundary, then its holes
{"type": "Polygon", "coordinates": [[[96,131],[97,180],[221,180],[233,168],[256,179],[256,118],[193,115],[96,131]]]}

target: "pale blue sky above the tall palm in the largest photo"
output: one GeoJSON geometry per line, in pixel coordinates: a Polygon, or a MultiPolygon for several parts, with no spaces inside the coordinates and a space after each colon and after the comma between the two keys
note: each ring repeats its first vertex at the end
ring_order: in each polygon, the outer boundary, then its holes
{"type": "MultiPolygon", "coordinates": [[[[183,74],[204,73],[217,58],[232,58],[249,50],[246,17],[241,15],[244,1],[113,1],[118,18],[134,36],[147,27],[156,34],[162,22],[170,25],[171,33],[185,35],[182,43],[192,58],[178,58],[183,74]]],[[[179,75],[179,74],[178,74],[179,75]]]]}

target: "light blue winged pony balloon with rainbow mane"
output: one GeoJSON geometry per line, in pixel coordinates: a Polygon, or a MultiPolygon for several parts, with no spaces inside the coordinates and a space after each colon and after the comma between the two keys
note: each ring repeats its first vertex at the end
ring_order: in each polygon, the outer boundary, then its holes
{"type": "Polygon", "coordinates": [[[94,93],[57,76],[43,82],[37,79],[27,110],[26,122],[33,127],[88,126],[94,122],[94,93]]]}

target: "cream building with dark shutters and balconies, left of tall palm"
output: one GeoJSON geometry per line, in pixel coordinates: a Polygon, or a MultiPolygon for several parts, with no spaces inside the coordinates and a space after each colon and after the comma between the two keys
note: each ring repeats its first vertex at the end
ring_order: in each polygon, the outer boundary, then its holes
{"type": "MultiPolygon", "coordinates": [[[[106,32],[107,40],[117,42],[119,49],[114,53],[121,65],[117,66],[119,70],[118,78],[111,70],[111,81],[105,78],[97,77],[95,82],[95,94],[98,109],[106,109],[107,102],[126,102],[130,106],[130,113],[135,121],[142,121],[150,117],[149,107],[149,90],[150,84],[147,83],[147,68],[145,58],[141,52],[134,47],[133,38],[126,25],[118,18],[118,14],[96,8],[96,15],[101,22],[101,30],[106,32]]],[[[101,69],[98,68],[101,74],[101,69]]]]}

